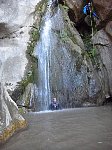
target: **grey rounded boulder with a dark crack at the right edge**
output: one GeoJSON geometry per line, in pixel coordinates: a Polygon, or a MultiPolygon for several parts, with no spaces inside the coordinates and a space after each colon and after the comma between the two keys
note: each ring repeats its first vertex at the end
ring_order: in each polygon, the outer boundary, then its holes
{"type": "MultiPolygon", "coordinates": [[[[112,94],[112,42],[104,30],[98,31],[92,39],[98,54],[99,60],[103,63],[102,72],[105,95],[112,94]]],[[[100,63],[101,63],[100,62],[100,63]]],[[[102,75],[101,75],[102,74],[102,75]]]]}

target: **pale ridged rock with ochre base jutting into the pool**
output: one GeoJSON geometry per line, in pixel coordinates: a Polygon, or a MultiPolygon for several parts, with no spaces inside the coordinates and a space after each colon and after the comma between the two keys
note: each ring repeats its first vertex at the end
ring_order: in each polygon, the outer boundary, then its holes
{"type": "Polygon", "coordinates": [[[15,131],[25,128],[27,123],[3,85],[0,85],[0,97],[0,143],[3,143],[15,131]]]}

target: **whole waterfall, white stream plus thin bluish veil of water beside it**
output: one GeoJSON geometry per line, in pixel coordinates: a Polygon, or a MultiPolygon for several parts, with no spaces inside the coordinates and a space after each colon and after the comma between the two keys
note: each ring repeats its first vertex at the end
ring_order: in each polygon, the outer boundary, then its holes
{"type": "Polygon", "coordinates": [[[49,0],[36,46],[37,111],[47,110],[53,97],[59,100],[63,108],[74,107],[72,102],[77,96],[80,97],[76,92],[83,90],[83,74],[76,72],[76,59],[60,39],[60,36],[64,36],[64,30],[63,12],[49,0]]]}

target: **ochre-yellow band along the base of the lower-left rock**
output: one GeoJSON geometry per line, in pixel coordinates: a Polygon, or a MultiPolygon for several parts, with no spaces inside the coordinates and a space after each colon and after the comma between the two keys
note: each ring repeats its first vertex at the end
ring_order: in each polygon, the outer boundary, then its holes
{"type": "Polygon", "coordinates": [[[8,126],[2,134],[0,134],[0,143],[6,142],[16,131],[27,127],[25,120],[17,120],[8,126]]]}

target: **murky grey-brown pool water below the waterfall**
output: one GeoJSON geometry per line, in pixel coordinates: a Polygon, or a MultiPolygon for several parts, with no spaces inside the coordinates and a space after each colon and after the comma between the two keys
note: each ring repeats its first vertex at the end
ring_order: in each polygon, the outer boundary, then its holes
{"type": "Polygon", "coordinates": [[[112,150],[112,106],[28,113],[0,150],[112,150]]]}

